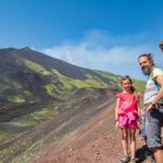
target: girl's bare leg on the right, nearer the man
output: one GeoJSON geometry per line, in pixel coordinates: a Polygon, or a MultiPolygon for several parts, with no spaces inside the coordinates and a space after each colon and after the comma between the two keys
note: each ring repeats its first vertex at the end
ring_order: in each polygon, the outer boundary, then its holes
{"type": "Polygon", "coordinates": [[[135,135],[136,135],[136,129],[129,129],[131,159],[136,158],[136,136],[135,135]]]}

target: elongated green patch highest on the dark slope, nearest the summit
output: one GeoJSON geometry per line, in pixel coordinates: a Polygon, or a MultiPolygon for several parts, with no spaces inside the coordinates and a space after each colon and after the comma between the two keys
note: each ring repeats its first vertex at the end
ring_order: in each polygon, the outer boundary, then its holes
{"type": "Polygon", "coordinates": [[[52,74],[51,72],[47,71],[42,65],[40,65],[36,62],[33,62],[29,60],[24,60],[24,63],[28,68],[30,68],[41,75],[51,75],[52,74]]]}

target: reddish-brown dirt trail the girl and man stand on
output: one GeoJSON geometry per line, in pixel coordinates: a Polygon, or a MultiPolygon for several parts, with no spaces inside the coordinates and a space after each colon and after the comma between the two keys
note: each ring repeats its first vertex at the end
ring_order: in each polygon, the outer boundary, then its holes
{"type": "MultiPolygon", "coordinates": [[[[142,141],[137,136],[138,153],[142,141]]],[[[122,152],[121,133],[114,128],[114,104],[91,118],[87,125],[67,135],[35,163],[118,163],[122,152]]],[[[139,163],[150,163],[141,158],[139,163]]]]}

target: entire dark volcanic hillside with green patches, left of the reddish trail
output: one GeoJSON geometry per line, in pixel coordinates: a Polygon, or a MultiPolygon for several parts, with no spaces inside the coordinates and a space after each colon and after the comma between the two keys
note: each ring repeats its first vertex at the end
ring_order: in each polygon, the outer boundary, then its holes
{"type": "MultiPolygon", "coordinates": [[[[0,161],[30,162],[114,102],[121,76],[0,49],[0,161]]],[[[135,79],[139,90],[145,83],[135,79]]]]}

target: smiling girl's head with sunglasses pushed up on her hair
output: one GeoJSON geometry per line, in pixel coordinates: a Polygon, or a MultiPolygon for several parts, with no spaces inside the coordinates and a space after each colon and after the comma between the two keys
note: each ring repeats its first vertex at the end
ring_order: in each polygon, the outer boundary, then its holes
{"type": "Polygon", "coordinates": [[[133,86],[133,80],[128,75],[122,76],[121,82],[122,82],[122,86],[123,86],[125,91],[127,91],[127,92],[129,92],[129,91],[134,92],[135,91],[135,88],[133,86]]]}

